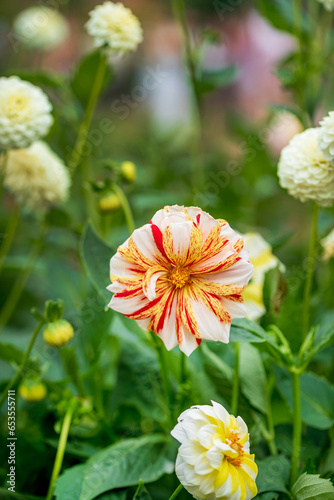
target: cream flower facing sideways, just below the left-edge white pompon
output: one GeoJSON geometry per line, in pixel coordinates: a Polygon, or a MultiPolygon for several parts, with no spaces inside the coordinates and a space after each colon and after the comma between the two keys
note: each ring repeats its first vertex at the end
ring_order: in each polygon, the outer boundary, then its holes
{"type": "Polygon", "coordinates": [[[45,142],[9,151],[5,187],[28,211],[45,210],[66,200],[70,177],[62,160],[45,142]]]}

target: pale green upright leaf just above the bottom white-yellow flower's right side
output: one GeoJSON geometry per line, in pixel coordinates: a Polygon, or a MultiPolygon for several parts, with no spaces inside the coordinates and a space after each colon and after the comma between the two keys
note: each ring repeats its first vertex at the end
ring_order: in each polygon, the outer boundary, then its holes
{"type": "Polygon", "coordinates": [[[267,377],[259,351],[251,344],[240,344],[241,389],[252,406],[268,413],[267,377]]]}

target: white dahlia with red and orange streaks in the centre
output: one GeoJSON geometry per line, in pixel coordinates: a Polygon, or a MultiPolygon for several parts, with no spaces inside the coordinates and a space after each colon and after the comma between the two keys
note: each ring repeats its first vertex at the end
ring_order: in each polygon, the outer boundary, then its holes
{"type": "Polygon", "coordinates": [[[112,257],[109,307],[189,356],[201,339],[229,341],[231,319],[246,315],[241,294],[252,272],[226,221],[165,207],[112,257]]]}

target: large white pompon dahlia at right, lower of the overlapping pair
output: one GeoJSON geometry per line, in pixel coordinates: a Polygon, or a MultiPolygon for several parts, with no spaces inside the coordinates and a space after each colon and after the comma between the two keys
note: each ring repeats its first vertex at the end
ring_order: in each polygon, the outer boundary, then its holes
{"type": "Polygon", "coordinates": [[[282,149],[278,177],[281,186],[294,198],[331,206],[334,199],[334,166],[319,151],[319,130],[304,130],[282,149]]]}

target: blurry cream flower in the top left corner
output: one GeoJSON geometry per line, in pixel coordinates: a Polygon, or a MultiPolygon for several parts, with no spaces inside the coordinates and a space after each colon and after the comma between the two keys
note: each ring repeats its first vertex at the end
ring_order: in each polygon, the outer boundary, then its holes
{"type": "Polygon", "coordinates": [[[55,9],[40,5],[20,12],[14,20],[13,32],[25,47],[47,51],[64,42],[69,25],[55,9]]]}

